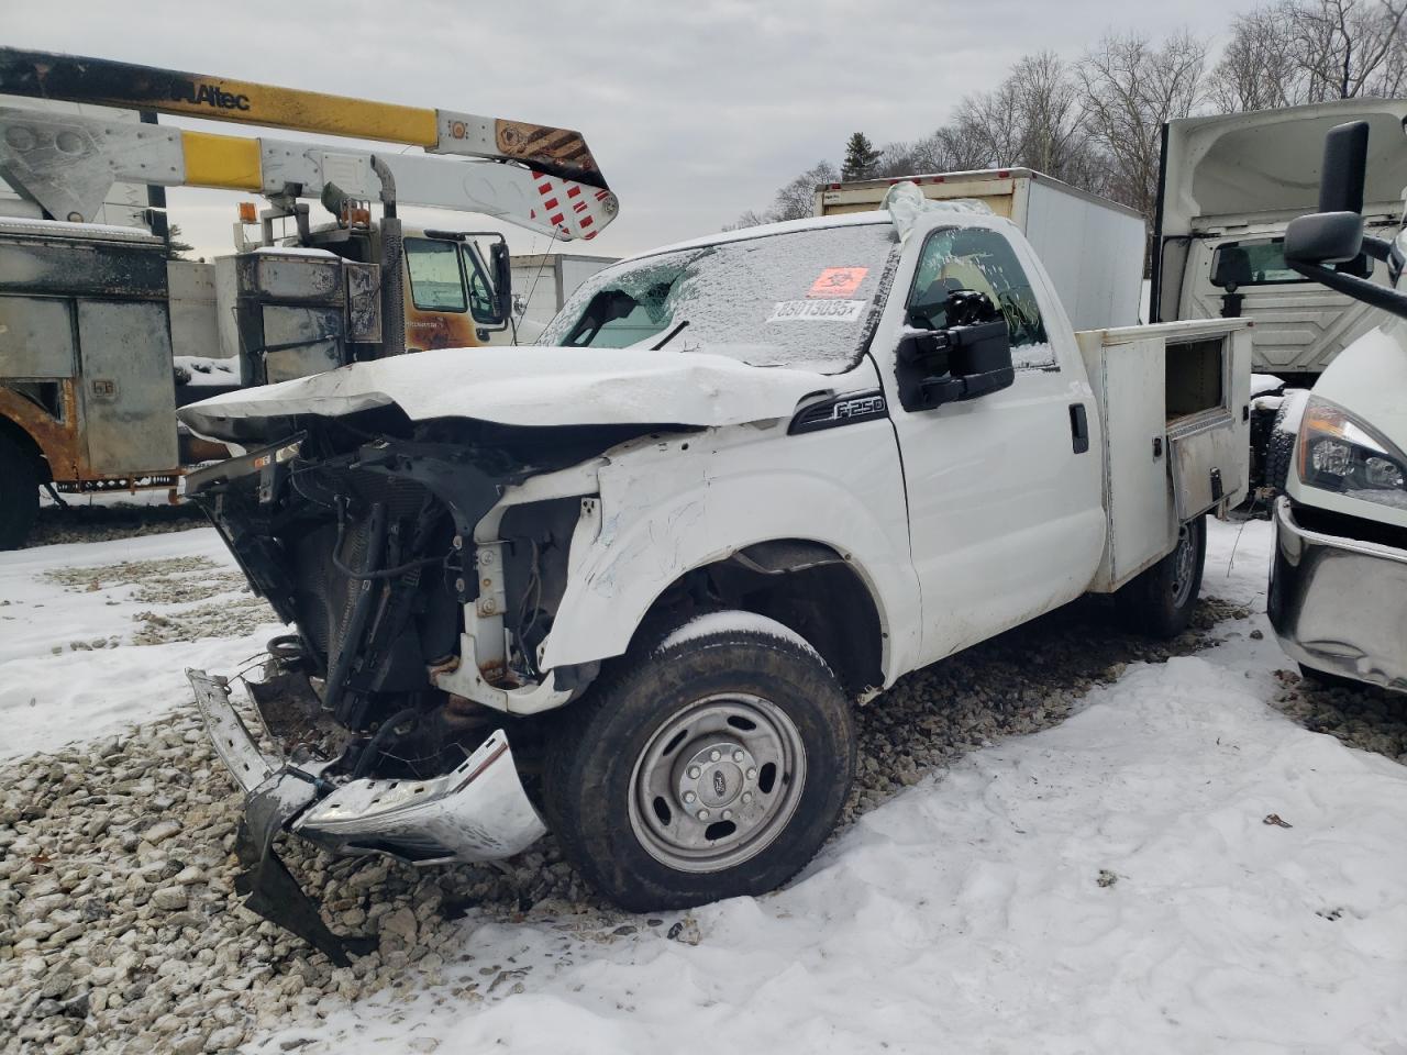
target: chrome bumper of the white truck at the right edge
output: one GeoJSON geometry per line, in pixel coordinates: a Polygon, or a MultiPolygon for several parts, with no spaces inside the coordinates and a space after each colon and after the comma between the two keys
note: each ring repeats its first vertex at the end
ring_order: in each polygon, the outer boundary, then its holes
{"type": "Polygon", "coordinates": [[[1268,609],[1290,658],[1407,692],[1407,551],[1307,530],[1282,497],[1268,609]]]}

